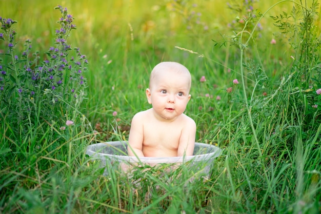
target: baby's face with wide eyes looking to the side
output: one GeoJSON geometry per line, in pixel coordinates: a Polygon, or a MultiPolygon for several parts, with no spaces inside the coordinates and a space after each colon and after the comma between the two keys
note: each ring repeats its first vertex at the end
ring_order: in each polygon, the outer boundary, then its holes
{"type": "Polygon", "coordinates": [[[154,76],[146,95],[159,119],[175,120],[186,109],[189,91],[189,73],[162,71],[154,76]]]}

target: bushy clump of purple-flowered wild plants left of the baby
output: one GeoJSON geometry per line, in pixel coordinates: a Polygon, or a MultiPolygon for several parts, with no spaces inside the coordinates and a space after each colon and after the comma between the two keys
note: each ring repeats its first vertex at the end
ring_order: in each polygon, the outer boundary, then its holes
{"type": "Polygon", "coordinates": [[[84,99],[88,61],[79,48],[72,49],[67,43],[70,32],[76,29],[74,18],[67,8],[55,9],[61,12],[60,27],[44,60],[39,51],[31,53],[30,40],[18,53],[13,28],[17,22],[0,17],[0,45],[4,47],[0,53],[0,116],[10,121],[14,134],[26,134],[30,127],[44,122],[59,126],[75,120],[84,99]]]}

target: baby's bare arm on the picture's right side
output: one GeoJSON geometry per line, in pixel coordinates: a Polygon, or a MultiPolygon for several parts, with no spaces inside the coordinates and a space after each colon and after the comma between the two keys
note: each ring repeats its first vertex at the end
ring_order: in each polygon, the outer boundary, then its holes
{"type": "Polygon", "coordinates": [[[193,155],[196,135],[196,124],[189,118],[180,135],[177,156],[193,155]]]}

